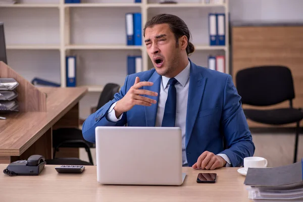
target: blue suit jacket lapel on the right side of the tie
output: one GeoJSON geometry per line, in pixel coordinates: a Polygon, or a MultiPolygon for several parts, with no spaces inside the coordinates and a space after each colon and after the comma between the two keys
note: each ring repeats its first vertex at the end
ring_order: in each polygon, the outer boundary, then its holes
{"type": "Polygon", "coordinates": [[[197,114],[199,112],[199,107],[202,100],[205,83],[206,83],[206,78],[202,76],[201,72],[197,71],[196,65],[191,62],[187,112],[186,112],[186,133],[185,133],[186,147],[190,139],[197,114]]]}

